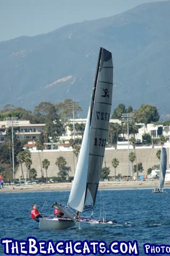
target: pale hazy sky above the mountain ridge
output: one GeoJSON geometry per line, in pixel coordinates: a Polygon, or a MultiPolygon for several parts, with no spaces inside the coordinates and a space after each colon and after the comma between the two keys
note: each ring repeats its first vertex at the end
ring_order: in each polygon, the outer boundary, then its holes
{"type": "MultiPolygon", "coordinates": [[[[159,0],[164,1],[164,0],[159,0]]],[[[0,0],[0,41],[110,17],[156,0],[0,0]]]]}

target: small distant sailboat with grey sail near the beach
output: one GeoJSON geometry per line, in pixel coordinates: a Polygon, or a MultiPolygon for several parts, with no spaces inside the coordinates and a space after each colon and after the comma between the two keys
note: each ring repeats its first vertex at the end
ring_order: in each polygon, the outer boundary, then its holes
{"type": "Polygon", "coordinates": [[[152,193],[165,193],[164,181],[165,181],[165,175],[166,175],[166,164],[167,164],[166,148],[162,147],[161,154],[160,154],[159,187],[152,190],[152,193]]]}

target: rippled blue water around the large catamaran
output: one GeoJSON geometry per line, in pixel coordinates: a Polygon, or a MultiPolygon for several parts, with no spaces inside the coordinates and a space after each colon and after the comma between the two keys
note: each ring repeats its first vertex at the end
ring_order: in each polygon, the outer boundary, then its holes
{"type": "MultiPolygon", "coordinates": [[[[52,214],[53,202],[65,205],[69,191],[0,194],[0,238],[25,240],[28,236],[34,236],[38,240],[52,239],[54,243],[58,240],[86,239],[102,240],[107,244],[115,240],[137,240],[140,255],[144,255],[144,243],[170,244],[170,190],[167,191],[163,195],[152,194],[151,189],[98,191],[94,217],[99,218],[100,205],[103,209],[104,201],[107,219],[115,219],[117,224],[106,228],[73,227],[58,231],[39,230],[38,223],[30,218],[31,206],[36,203],[41,211],[47,201],[43,213],[52,214]]],[[[0,245],[0,255],[5,255],[3,245],[0,245]]]]}

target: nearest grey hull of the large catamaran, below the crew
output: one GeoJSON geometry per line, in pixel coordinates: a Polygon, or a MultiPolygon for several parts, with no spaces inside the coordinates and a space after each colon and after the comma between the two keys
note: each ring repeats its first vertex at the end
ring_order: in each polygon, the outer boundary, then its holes
{"type": "Polygon", "coordinates": [[[41,230],[59,230],[73,226],[75,226],[75,222],[67,218],[43,218],[39,220],[39,229],[41,230]]]}

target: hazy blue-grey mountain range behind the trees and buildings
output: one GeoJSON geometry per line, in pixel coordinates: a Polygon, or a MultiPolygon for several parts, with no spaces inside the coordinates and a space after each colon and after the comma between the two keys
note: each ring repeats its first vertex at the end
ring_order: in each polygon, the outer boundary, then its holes
{"type": "Polygon", "coordinates": [[[74,99],[86,116],[100,47],[114,59],[113,108],[157,107],[170,118],[170,1],[139,5],[113,17],[0,42],[0,108],[33,110],[74,99]]]}

